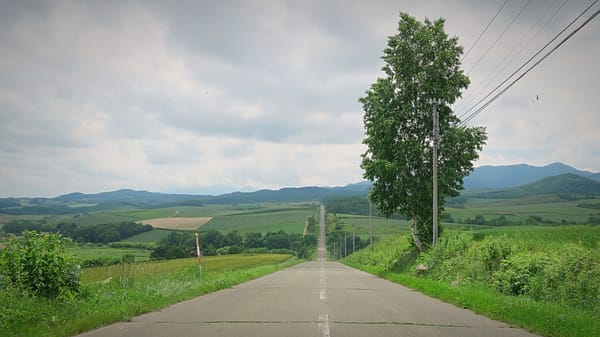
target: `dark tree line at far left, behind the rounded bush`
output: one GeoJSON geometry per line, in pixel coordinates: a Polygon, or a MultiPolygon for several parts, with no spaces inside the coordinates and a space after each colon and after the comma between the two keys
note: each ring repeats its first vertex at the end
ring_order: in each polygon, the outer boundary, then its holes
{"type": "Polygon", "coordinates": [[[7,234],[22,235],[25,231],[38,231],[60,233],[77,242],[109,243],[121,241],[130,236],[151,231],[152,226],[142,225],[133,221],[82,226],[76,223],[61,222],[58,224],[51,224],[43,220],[17,219],[6,223],[2,229],[7,234]]]}

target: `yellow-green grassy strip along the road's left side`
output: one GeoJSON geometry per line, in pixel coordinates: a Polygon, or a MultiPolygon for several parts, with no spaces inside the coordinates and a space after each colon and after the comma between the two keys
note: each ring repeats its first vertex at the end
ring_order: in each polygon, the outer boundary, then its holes
{"type": "Polygon", "coordinates": [[[237,255],[122,264],[83,271],[78,298],[48,301],[14,289],[0,293],[3,336],[71,336],[202,294],[231,287],[301,260],[289,255],[237,255]]]}

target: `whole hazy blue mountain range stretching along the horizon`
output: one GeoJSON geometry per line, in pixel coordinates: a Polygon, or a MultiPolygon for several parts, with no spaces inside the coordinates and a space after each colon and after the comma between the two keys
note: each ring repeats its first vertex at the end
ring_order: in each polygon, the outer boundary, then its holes
{"type": "MultiPolygon", "coordinates": [[[[370,186],[369,182],[360,182],[341,187],[287,187],[218,196],[122,189],[96,194],[70,193],[56,198],[4,198],[0,199],[0,213],[70,214],[118,207],[319,201],[333,197],[365,196],[370,186]]],[[[482,166],[465,178],[465,187],[464,194],[484,198],[519,198],[540,194],[600,196],[600,173],[580,171],[562,163],[543,167],[526,164],[482,166]]]]}

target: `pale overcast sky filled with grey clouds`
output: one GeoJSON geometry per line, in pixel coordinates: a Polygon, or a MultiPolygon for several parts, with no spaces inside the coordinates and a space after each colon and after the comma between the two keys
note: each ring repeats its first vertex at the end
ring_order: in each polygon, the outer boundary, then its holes
{"type": "MultiPolygon", "coordinates": [[[[359,182],[400,12],[473,46],[460,116],[592,2],[509,0],[473,45],[503,0],[0,0],[0,197],[359,182]]],[[[470,121],[476,166],[599,171],[598,55],[596,18],[470,121]]]]}

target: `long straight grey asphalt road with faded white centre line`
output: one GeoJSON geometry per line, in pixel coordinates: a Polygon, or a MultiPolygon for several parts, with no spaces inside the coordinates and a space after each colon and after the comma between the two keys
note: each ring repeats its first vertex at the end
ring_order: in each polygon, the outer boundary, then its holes
{"type": "Polygon", "coordinates": [[[316,262],[79,336],[535,336],[327,262],[324,245],[316,262]]]}

